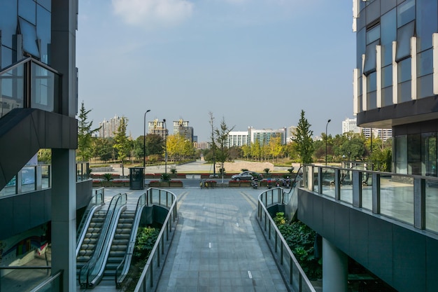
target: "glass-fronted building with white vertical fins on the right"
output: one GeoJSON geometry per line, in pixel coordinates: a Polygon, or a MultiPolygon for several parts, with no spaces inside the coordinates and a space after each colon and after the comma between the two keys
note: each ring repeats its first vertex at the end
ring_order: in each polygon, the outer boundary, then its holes
{"type": "Polygon", "coordinates": [[[393,169],[437,176],[438,3],[353,1],[358,126],[393,130],[393,169]]]}

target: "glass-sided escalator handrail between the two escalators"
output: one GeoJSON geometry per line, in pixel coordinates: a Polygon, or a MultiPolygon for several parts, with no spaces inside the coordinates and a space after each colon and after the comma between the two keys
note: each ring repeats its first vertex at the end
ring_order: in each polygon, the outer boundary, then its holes
{"type": "Polygon", "coordinates": [[[110,228],[113,227],[114,225],[114,221],[115,221],[114,214],[118,212],[122,206],[126,207],[126,202],[127,202],[126,193],[123,195],[119,193],[118,195],[115,195],[111,199],[111,203],[108,207],[108,211],[106,211],[106,219],[104,225],[102,226],[101,234],[99,236],[99,239],[97,240],[96,249],[94,250],[94,253],[90,258],[90,260],[88,260],[88,262],[83,267],[81,267],[79,271],[78,281],[82,288],[86,288],[90,286],[90,281],[94,279],[94,276],[90,277],[90,273],[94,271],[94,268],[96,267],[96,263],[101,257],[101,253],[103,249],[104,248],[108,249],[108,245],[109,245],[108,232],[110,228]]]}

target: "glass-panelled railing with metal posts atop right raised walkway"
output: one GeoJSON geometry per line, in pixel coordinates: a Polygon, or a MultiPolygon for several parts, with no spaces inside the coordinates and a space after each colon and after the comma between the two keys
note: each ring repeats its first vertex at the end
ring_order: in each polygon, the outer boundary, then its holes
{"type": "Polygon", "coordinates": [[[438,233],[437,177],[306,165],[303,179],[319,195],[438,233]]]}

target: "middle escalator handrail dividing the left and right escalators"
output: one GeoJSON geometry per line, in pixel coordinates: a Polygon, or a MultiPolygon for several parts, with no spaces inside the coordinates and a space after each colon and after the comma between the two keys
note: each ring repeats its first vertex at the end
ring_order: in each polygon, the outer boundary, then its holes
{"type": "Polygon", "coordinates": [[[126,193],[124,195],[119,193],[118,195],[115,195],[111,199],[111,203],[109,204],[108,210],[106,211],[106,218],[104,221],[104,225],[102,225],[99,239],[97,239],[94,253],[93,253],[92,257],[90,258],[90,260],[88,260],[88,262],[85,265],[83,265],[83,267],[80,268],[79,275],[78,275],[78,281],[79,281],[80,286],[88,286],[88,284],[89,284],[89,281],[87,281],[87,279],[89,277],[88,275],[90,274],[90,267],[92,267],[92,269],[94,269],[93,263],[97,262],[97,258],[99,258],[99,256],[101,255],[101,251],[104,248],[104,242],[105,242],[106,236],[108,234],[108,229],[110,228],[111,221],[113,219],[114,209],[118,206],[118,203],[121,203],[120,198],[122,198],[122,197],[125,198],[124,204],[126,205],[126,201],[127,201],[126,200],[126,197],[127,197],[126,193]],[[81,281],[83,276],[85,276],[85,282],[81,281]]]}

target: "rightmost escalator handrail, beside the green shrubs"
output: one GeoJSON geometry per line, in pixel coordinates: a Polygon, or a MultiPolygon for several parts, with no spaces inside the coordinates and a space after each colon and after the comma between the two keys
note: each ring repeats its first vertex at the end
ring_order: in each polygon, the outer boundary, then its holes
{"type": "Polygon", "coordinates": [[[141,219],[141,214],[143,212],[143,207],[148,206],[148,200],[146,200],[146,198],[149,190],[146,190],[146,192],[147,193],[143,193],[143,195],[141,195],[139,197],[139,200],[137,201],[137,206],[134,212],[134,222],[132,223],[132,230],[131,235],[129,236],[127,251],[120,264],[115,268],[114,280],[115,286],[117,287],[120,287],[123,280],[125,280],[125,277],[129,271],[129,267],[131,265],[132,254],[134,253],[134,246],[137,238],[137,231],[139,230],[139,223],[141,219]],[[121,267],[122,270],[120,270],[121,267]]]}

